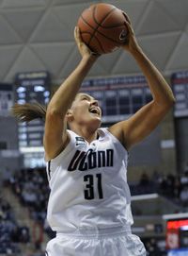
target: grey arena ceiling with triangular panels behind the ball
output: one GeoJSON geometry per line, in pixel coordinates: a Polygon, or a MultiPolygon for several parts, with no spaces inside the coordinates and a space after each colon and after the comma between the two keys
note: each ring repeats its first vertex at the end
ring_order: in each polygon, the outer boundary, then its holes
{"type": "MultiPolygon", "coordinates": [[[[129,14],[138,42],[165,76],[188,69],[188,0],[0,0],[0,81],[48,70],[60,83],[80,60],[73,39],[77,19],[99,2],[129,14]]],[[[88,77],[139,73],[133,58],[118,50],[102,56],[88,77]]]]}

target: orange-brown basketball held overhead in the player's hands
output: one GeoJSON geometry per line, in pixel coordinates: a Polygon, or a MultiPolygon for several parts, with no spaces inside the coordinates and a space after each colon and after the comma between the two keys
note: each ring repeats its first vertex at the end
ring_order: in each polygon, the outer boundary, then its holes
{"type": "Polygon", "coordinates": [[[95,53],[115,51],[127,39],[125,16],[110,4],[96,4],[85,9],[78,19],[84,43],[95,53]]]}

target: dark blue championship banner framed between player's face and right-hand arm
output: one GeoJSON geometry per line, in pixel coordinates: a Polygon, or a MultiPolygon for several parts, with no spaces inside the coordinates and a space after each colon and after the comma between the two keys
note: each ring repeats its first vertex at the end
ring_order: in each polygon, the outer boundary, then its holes
{"type": "Polygon", "coordinates": [[[99,101],[103,123],[124,120],[152,100],[143,76],[87,79],[81,92],[99,101]]]}

